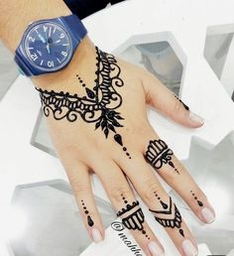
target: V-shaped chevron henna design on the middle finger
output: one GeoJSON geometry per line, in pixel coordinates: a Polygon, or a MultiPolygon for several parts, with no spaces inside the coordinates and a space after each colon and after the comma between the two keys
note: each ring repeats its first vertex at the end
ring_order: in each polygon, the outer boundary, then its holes
{"type": "Polygon", "coordinates": [[[161,210],[149,209],[154,213],[155,219],[164,227],[177,228],[179,234],[184,237],[184,232],[181,228],[182,218],[176,204],[173,203],[172,197],[170,197],[169,203],[166,203],[161,199],[157,192],[154,192],[154,194],[163,207],[161,210]]]}

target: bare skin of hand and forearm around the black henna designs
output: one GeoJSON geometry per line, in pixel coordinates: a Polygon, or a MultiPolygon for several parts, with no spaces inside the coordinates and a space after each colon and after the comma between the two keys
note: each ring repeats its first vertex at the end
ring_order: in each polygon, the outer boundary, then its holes
{"type": "MultiPolygon", "coordinates": [[[[39,0],[12,0],[10,3],[2,0],[0,9],[3,10],[0,14],[0,38],[12,52],[17,48],[31,21],[70,14],[60,0],[47,0],[44,1],[44,4],[39,0]],[[18,10],[22,11],[18,12],[18,10]],[[4,26],[2,26],[3,24],[4,26]]],[[[95,58],[94,45],[88,37],[85,37],[66,68],[56,73],[33,77],[32,80],[37,88],[69,92],[71,95],[75,93],[84,95],[84,88],[77,81],[76,74],[78,73],[84,80],[86,87],[92,89],[96,70],[95,58]]],[[[153,168],[144,157],[149,141],[159,139],[159,135],[154,131],[147,118],[147,104],[152,105],[157,111],[180,125],[189,128],[198,128],[202,125],[201,122],[189,118],[189,110],[186,110],[173,93],[155,76],[133,64],[118,59],[117,62],[121,68],[120,76],[125,84],[116,89],[123,99],[123,103],[117,111],[124,117],[121,122],[124,127],[118,128],[118,132],[121,133],[124,144],[132,156],[131,160],[123,154],[122,148],[112,137],[106,139],[101,129],[95,130],[94,124],[86,123],[81,118],[73,123],[66,119],[57,121],[53,115],[47,118],[58,158],[64,167],[80,208],[83,223],[91,238],[93,238],[92,229],[97,228],[104,239],[102,221],[91,190],[91,174],[97,175],[100,179],[116,211],[126,206],[122,199],[123,196],[129,202],[136,200],[129,182],[151,209],[161,207],[154,192],[160,194],[164,201],[169,201],[169,194],[164,190],[155,176],[153,168]],[[85,202],[85,207],[94,221],[93,226],[89,226],[87,223],[87,215],[83,210],[81,200],[85,202]]],[[[160,176],[178,192],[195,215],[205,222],[201,209],[207,207],[214,214],[213,208],[176,156],[173,156],[173,162],[180,175],[176,175],[169,165],[164,165],[159,172],[160,176]],[[191,190],[203,202],[203,207],[197,205],[190,193],[191,190]]],[[[197,245],[184,221],[181,222],[181,228],[184,231],[184,237],[177,232],[176,228],[167,227],[166,230],[180,254],[186,255],[182,249],[182,242],[185,239],[190,240],[195,248],[197,245]]],[[[149,242],[152,241],[155,241],[164,250],[155,235],[157,230],[152,230],[147,221],[144,222],[144,229],[150,240],[146,239],[139,230],[131,230],[131,232],[146,255],[154,255],[149,249],[149,242]]]]}

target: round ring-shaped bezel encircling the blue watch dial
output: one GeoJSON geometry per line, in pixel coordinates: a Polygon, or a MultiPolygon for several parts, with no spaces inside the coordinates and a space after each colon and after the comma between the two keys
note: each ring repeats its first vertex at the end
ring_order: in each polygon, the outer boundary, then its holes
{"type": "Polygon", "coordinates": [[[24,35],[24,38],[23,38],[23,55],[24,57],[29,61],[30,64],[33,65],[34,68],[37,68],[39,70],[42,70],[42,71],[46,71],[46,72],[54,72],[54,71],[58,71],[60,70],[61,68],[63,68],[64,66],[66,66],[71,58],[72,58],[72,49],[73,49],[73,45],[72,45],[72,40],[71,40],[71,37],[70,35],[67,33],[66,31],[66,28],[64,26],[62,26],[62,24],[58,24],[57,22],[53,22],[53,21],[48,21],[48,20],[45,20],[45,21],[39,21],[39,22],[35,22],[33,24],[30,24],[25,35],[24,35]],[[69,53],[68,53],[68,56],[66,57],[66,60],[65,62],[63,62],[62,64],[59,64],[58,66],[55,66],[55,67],[44,67],[44,66],[41,66],[41,65],[38,65],[38,64],[35,64],[31,58],[29,57],[30,55],[30,52],[29,50],[27,49],[26,47],[26,44],[27,44],[27,39],[28,39],[28,36],[29,34],[35,29],[35,27],[38,27],[40,25],[46,25],[46,24],[51,24],[51,25],[54,25],[54,26],[57,26],[59,27],[65,34],[65,36],[68,38],[69,40],[69,44],[70,44],[70,49],[69,49],[69,53]]]}

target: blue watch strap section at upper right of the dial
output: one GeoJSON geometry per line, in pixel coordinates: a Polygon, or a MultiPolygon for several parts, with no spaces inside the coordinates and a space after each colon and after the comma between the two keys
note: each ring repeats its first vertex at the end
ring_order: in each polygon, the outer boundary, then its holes
{"type": "Polygon", "coordinates": [[[79,18],[74,14],[62,16],[61,18],[69,29],[72,28],[73,36],[76,38],[76,40],[78,40],[78,42],[80,42],[87,34],[87,30],[79,18]]]}

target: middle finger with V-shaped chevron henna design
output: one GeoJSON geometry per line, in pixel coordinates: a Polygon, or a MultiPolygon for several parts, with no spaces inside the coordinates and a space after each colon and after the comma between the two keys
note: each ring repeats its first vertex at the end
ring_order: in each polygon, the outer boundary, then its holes
{"type": "Polygon", "coordinates": [[[156,221],[166,229],[179,253],[196,255],[197,244],[176,204],[161,186],[142,154],[135,153],[134,156],[131,164],[126,161],[124,163],[126,174],[134,188],[146,202],[156,221]]]}

